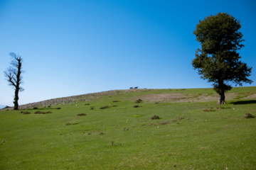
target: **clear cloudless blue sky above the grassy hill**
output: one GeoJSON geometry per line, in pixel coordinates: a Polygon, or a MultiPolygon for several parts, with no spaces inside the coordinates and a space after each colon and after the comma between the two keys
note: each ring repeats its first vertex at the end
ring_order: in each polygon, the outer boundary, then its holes
{"type": "Polygon", "coordinates": [[[211,87],[191,65],[200,47],[193,30],[218,12],[240,20],[239,52],[256,81],[255,8],[255,0],[0,0],[0,104],[13,106],[9,52],[23,57],[19,104],[131,86],[211,87]]]}

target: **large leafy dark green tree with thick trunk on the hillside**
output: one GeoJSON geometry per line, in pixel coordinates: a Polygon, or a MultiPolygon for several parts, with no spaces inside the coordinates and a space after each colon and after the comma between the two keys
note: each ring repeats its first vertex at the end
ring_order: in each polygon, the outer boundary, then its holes
{"type": "Polygon", "coordinates": [[[218,13],[215,16],[207,16],[199,21],[193,35],[201,43],[201,49],[196,50],[196,58],[192,65],[198,69],[202,79],[213,83],[213,89],[218,93],[218,103],[225,104],[225,91],[232,89],[228,84],[242,86],[242,83],[252,83],[247,79],[252,67],[240,61],[237,52],[242,45],[242,33],[240,21],[228,13],[218,13]]]}

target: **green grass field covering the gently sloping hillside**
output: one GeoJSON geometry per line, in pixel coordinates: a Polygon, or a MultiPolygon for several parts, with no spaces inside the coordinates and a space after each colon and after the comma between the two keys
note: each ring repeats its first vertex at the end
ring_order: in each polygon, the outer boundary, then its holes
{"type": "Polygon", "coordinates": [[[212,89],[120,90],[0,111],[0,169],[255,169],[256,119],[242,118],[255,94],[217,106],[212,89]]]}

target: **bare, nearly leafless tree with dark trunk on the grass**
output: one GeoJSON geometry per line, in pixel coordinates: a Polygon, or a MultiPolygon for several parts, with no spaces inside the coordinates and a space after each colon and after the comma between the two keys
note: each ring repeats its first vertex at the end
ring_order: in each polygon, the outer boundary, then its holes
{"type": "Polygon", "coordinates": [[[7,78],[6,80],[9,82],[9,86],[13,86],[15,90],[14,95],[14,110],[18,110],[18,91],[23,91],[24,89],[21,87],[22,77],[21,73],[23,72],[21,69],[22,58],[20,55],[16,55],[14,52],[10,53],[11,55],[11,67],[6,69],[4,72],[4,76],[7,78]]]}

